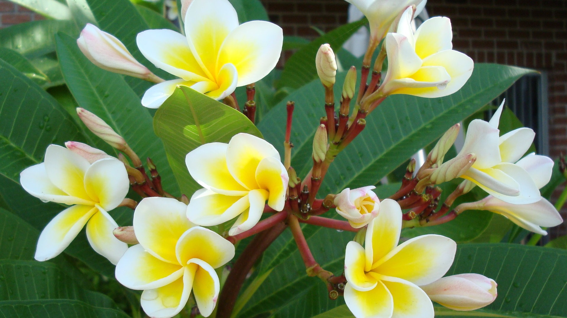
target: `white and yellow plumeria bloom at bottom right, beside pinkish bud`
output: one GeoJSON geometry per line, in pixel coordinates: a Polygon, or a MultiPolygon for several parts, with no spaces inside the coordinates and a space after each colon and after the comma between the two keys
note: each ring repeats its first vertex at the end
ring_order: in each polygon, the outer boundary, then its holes
{"type": "Polygon", "coordinates": [[[451,267],[456,243],[441,235],[421,235],[397,246],[401,209],[385,199],[366,230],[365,247],[346,246],[345,302],[357,318],[433,317],[433,304],[418,286],[437,281],[451,267]]]}

